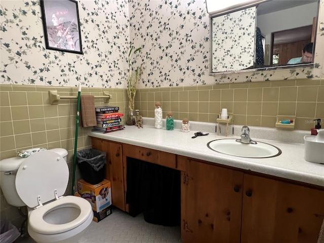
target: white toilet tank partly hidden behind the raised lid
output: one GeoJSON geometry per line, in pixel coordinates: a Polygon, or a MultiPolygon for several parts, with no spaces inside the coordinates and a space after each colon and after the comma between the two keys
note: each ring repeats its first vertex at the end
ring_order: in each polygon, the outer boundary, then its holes
{"type": "MultiPolygon", "coordinates": [[[[50,151],[60,154],[66,161],[67,151],[64,148],[53,148],[50,151]]],[[[25,158],[16,156],[0,160],[0,185],[8,204],[15,207],[26,206],[16,190],[16,173],[25,158]]]]}

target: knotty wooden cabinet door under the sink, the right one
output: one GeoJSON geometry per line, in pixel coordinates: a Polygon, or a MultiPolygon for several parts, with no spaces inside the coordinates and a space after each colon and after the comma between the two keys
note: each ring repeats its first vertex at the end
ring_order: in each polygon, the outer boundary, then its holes
{"type": "Polygon", "coordinates": [[[316,243],[324,191],[244,176],[241,243],[316,243]]]}

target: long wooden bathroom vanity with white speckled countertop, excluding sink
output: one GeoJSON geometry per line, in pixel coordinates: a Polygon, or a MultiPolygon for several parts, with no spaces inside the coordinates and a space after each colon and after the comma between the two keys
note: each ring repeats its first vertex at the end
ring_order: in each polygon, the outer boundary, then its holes
{"type": "MultiPolygon", "coordinates": [[[[203,131],[205,132],[205,131],[203,131]]],[[[189,242],[316,243],[324,220],[324,165],[304,160],[304,145],[268,142],[282,150],[271,158],[243,158],[207,147],[194,132],[144,126],[110,134],[90,132],[106,151],[112,204],[126,204],[128,157],[181,171],[181,238],[189,242]]],[[[236,137],[237,138],[237,137],[236,137]]]]}

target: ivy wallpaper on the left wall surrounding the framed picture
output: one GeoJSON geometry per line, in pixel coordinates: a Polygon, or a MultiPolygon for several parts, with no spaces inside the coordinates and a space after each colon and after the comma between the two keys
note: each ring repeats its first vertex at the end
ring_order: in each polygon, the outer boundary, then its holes
{"type": "Polygon", "coordinates": [[[45,48],[39,1],[1,1],[1,84],[120,86],[130,45],[127,3],[79,1],[78,9],[84,55],[45,48]]]}

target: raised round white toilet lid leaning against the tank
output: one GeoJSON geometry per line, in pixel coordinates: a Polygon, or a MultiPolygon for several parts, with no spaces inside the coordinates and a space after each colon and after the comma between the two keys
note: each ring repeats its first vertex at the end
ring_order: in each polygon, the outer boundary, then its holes
{"type": "Polygon", "coordinates": [[[50,150],[34,153],[21,163],[16,176],[16,190],[29,207],[34,208],[64,194],[69,180],[65,159],[50,150]],[[38,201],[39,196],[39,201],[38,201]]]}

